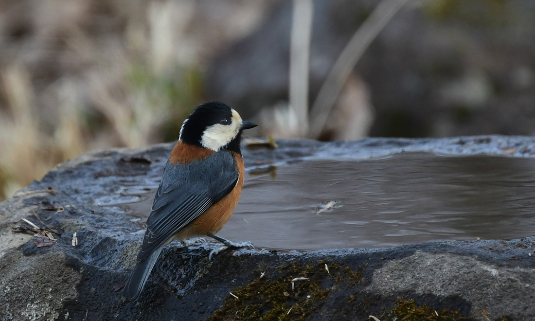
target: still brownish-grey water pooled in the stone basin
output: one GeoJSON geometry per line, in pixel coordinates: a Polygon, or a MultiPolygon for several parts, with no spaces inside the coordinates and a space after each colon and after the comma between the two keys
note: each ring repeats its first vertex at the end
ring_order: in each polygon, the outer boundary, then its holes
{"type": "MultiPolygon", "coordinates": [[[[533,158],[401,153],[258,172],[246,175],[219,236],[257,248],[313,250],[535,234],[533,158]]],[[[141,228],[154,193],[126,205],[141,228]]]]}

